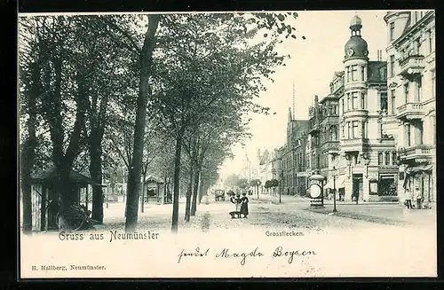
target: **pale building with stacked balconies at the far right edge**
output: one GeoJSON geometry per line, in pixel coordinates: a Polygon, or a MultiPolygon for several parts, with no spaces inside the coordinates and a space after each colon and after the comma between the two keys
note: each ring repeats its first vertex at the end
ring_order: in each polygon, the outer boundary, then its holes
{"type": "Polygon", "coordinates": [[[436,200],[435,12],[387,12],[388,112],[397,121],[398,191],[436,200]],[[433,174],[434,173],[434,174],[433,174]]]}

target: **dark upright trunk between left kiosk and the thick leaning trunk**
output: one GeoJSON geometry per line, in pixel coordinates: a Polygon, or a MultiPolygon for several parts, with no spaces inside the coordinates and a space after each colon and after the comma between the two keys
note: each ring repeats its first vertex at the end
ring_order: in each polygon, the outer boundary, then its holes
{"type": "MultiPolygon", "coordinates": [[[[98,136],[94,131],[91,131],[90,135],[90,175],[96,183],[102,183],[101,140],[98,140],[98,136]]],[[[103,188],[99,185],[92,185],[91,218],[99,223],[103,223],[103,188]]]]}

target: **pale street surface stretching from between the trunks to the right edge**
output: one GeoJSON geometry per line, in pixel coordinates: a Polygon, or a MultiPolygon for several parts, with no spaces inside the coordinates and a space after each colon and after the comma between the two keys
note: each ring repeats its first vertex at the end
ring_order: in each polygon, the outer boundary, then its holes
{"type": "MultiPolygon", "coordinates": [[[[295,229],[305,231],[334,231],[335,228],[353,229],[365,227],[434,227],[434,209],[415,210],[398,204],[341,204],[337,203],[337,213],[332,214],[333,206],[313,210],[310,200],[293,196],[270,196],[261,194],[257,200],[250,196],[250,216],[231,219],[228,212],[233,210],[229,201],[214,201],[204,197],[198,206],[196,216],[184,221],[185,200],[179,204],[179,231],[188,228],[211,231],[213,229],[295,229]]],[[[124,228],[124,203],[110,203],[104,209],[103,229],[124,228]]],[[[146,204],[145,212],[139,212],[139,230],[167,230],[171,223],[172,205],[146,204]]]]}

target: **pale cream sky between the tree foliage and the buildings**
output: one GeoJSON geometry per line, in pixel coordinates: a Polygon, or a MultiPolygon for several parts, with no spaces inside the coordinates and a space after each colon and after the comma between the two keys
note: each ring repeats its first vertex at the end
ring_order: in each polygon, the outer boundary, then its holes
{"type": "Polygon", "coordinates": [[[274,82],[266,83],[266,92],[258,98],[258,103],[269,106],[276,114],[251,114],[250,133],[245,146],[234,145],[234,159],[227,160],[219,174],[223,179],[229,174],[238,174],[247,154],[254,158],[258,149],[284,145],[287,131],[289,107],[293,103],[293,82],[295,86],[296,119],[308,119],[308,107],[314,95],[329,94],[329,82],[335,71],[344,70],[342,60],[344,45],[350,38],[350,20],[358,15],[362,20],[361,35],[369,44],[369,59],[377,59],[377,51],[383,52],[387,43],[385,11],[318,11],[297,12],[293,20],[297,39],[281,43],[280,52],[290,55],[285,67],[278,67],[274,82]],[[302,39],[305,36],[305,40],[302,39]]]}

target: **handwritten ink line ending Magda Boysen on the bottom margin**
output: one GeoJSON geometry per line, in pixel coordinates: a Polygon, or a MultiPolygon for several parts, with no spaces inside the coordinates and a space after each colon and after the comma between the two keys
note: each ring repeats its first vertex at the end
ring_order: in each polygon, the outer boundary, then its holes
{"type": "MultiPolygon", "coordinates": [[[[215,255],[212,255],[215,258],[237,258],[240,260],[241,265],[245,265],[248,258],[260,258],[266,256],[264,252],[260,251],[258,247],[256,247],[252,251],[246,252],[234,252],[229,248],[225,247],[221,250],[215,252],[215,255]]],[[[313,250],[285,250],[283,247],[276,247],[271,254],[273,258],[284,257],[287,258],[288,263],[293,263],[294,258],[297,256],[306,256],[306,255],[316,255],[313,250]]],[[[182,249],[182,251],[178,254],[178,263],[182,261],[182,258],[186,257],[208,257],[210,256],[210,248],[201,249],[200,247],[196,247],[192,251],[186,251],[186,249],[182,249]]]]}

